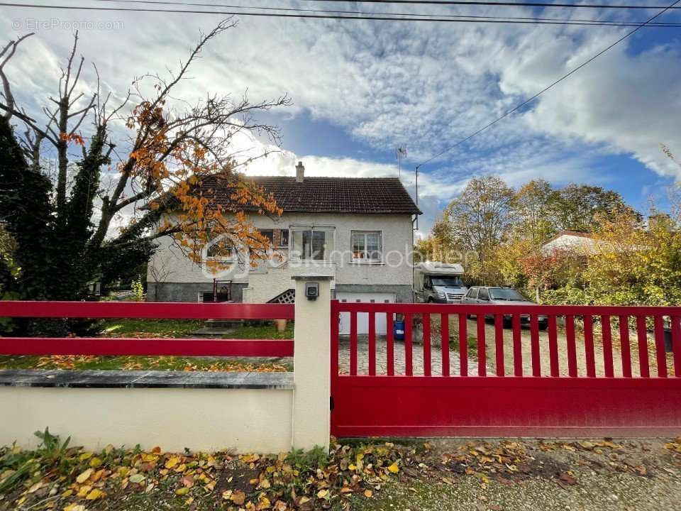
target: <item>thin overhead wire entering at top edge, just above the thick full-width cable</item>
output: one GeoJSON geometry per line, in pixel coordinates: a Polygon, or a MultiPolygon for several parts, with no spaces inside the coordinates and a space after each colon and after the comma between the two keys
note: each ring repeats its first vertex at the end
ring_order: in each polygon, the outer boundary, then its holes
{"type": "MultiPolygon", "coordinates": [[[[612,25],[612,26],[638,26],[643,21],[607,21],[599,19],[580,19],[580,18],[537,18],[537,17],[522,17],[522,16],[475,16],[468,14],[445,14],[445,13],[395,13],[395,12],[376,12],[376,11],[333,11],[331,9],[296,9],[292,7],[262,7],[262,6],[239,6],[229,4],[196,4],[182,1],[162,1],[162,0],[92,0],[100,2],[114,2],[116,4],[155,4],[155,5],[179,5],[179,6],[194,6],[194,7],[227,7],[230,9],[258,9],[260,11],[296,11],[296,12],[315,12],[315,13],[334,13],[334,14],[363,14],[363,15],[378,15],[381,16],[412,16],[412,17],[433,17],[441,18],[472,18],[472,19],[492,19],[492,20],[524,20],[524,21],[578,21],[582,23],[594,23],[598,25],[612,25]]],[[[678,27],[681,23],[650,23],[651,26],[664,27],[678,27]]]]}

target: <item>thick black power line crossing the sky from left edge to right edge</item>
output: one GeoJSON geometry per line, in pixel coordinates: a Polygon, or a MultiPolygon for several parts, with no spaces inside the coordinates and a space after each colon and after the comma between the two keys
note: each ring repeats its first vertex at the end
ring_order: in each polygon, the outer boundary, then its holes
{"type": "MultiPolygon", "coordinates": [[[[335,0],[324,0],[335,1],[335,0]]],[[[441,2],[436,2],[441,3],[441,2]]],[[[444,2],[442,2],[444,3],[444,2]]],[[[338,19],[338,20],[372,20],[372,21],[425,21],[438,23],[503,23],[503,24],[524,24],[524,25],[578,25],[578,26],[641,26],[638,23],[616,23],[599,21],[597,23],[572,22],[572,21],[522,21],[511,19],[472,19],[472,18],[406,18],[390,16],[337,16],[334,14],[284,14],[284,13],[262,13],[250,11],[194,11],[183,9],[145,9],[130,7],[92,7],[92,6],[55,6],[43,4],[15,4],[10,2],[0,2],[4,7],[24,7],[31,9],[60,9],[74,11],[127,11],[127,12],[160,12],[160,13],[184,13],[184,14],[220,14],[222,16],[257,16],[262,18],[312,18],[312,19],[338,19]]],[[[646,23],[647,24],[647,23],[646,23]]],[[[655,28],[677,27],[679,24],[665,23],[652,25],[655,28]]]]}

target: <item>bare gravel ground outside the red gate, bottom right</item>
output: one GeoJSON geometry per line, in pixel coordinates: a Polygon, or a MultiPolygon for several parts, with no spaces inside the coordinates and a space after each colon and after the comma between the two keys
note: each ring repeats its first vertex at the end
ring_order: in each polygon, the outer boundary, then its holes
{"type": "MultiPolygon", "coordinates": [[[[447,452],[463,440],[429,440],[447,452]]],[[[494,473],[442,473],[431,480],[389,483],[362,511],[659,511],[680,510],[681,455],[658,440],[617,441],[618,449],[587,451],[557,443],[546,451],[538,441],[521,441],[536,461],[536,473],[509,483],[494,473]],[[562,468],[561,468],[562,467],[562,468]],[[554,470],[558,468],[558,471],[554,470]],[[568,484],[558,472],[569,468],[568,484]]],[[[569,441],[568,441],[569,442],[569,441]]],[[[576,446],[576,447],[575,447],[576,446]]]]}

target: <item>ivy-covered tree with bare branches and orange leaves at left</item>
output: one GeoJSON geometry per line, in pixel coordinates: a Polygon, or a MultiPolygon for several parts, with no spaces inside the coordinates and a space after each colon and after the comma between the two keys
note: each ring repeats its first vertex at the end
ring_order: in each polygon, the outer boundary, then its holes
{"type": "Polygon", "coordinates": [[[174,95],[206,43],[234,26],[226,20],[202,34],[176,72],[135,78],[113,105],[117,96],[102,90],[96,67],[96,83],[81,83],[85,61],[76,57],[76,34],[58,94],[37,114],[15,101],[6,66],[23,57],[18,50],[32,34],[0,49],[0,223],[15,247],[15,268],[0,269],[4,292],[82,299],[88,282],[106,285],[126,275],[163,236],[194,260],[217,236],[248,247],[251,258],[267,253],[267,238],[248,216],[281,210],[243,177],[249,160],[236,158],[234,139],[253,132],[278,145],[277,128],[255,116],[289,99],[251,103],[212,94],[189,104],[174,95]],[[209,176],[231,190],[226,204],[198,191],[209,176]],[[123,217],[130,220],[121,225],[123,217]]]}

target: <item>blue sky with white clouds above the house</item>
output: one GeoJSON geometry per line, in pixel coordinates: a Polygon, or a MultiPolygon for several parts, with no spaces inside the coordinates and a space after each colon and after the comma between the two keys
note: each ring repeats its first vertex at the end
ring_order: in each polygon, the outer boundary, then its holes
{"type": "MultiPolygon", "coordinates": [[[[192,0],[186,0],[191,3],[192,0]]],[[[654,10],[409,6],[321,1],[255,3],[303,9],[538,16],[645,21],[654,10]]],[[[24,1],[25,4],[47,2],[24,1]]],[[[57,0],[54,5],[160,8],[156,4],[57,0]]],[[[194,3],[199,3],[195,0],[194,3]]],[[[202,0],[201,4],[225,4],[202,0]]],[[[631,1],[608,0],[609,4],[631,1]]],[[[646,1],[646,4],[669,4],[646,1]]],[[[175,5],[172,9],[192,9],[175,5]]],[[[203,11],[226,7],[200,6],[203,11]]],[[[5,39],[27,31],[8,72],[18,100],[38,111],[52,93],[78,24],[79,52],[96,62],[105,87],[126,92],[133,77],[177,67],[219,14],[78,11],[0,6],[5,39]],[[92,26],[92,23],[103,26],[92,26]],[[86,23],[91,23],[87,25],[86,23]]],[[[182,97],[243,94],[253,101],[289,94],[294,104],[262,119],[282,128],[282,152],[248,172],[397,175],[404,183],[429,160],[531,97],[624,35],[631,27],[407,23],[236,16],[238,26],[213,40],[182,85],[182,97]]],[[[681,22],[681,11],[657,21],[681,22]]],[[[3,43],[4,44],[4,43],[3,43]]],[[[92,87],[92,72],[84,87],[92,87]]],[[[645,210],[681,168],[660,143],[681,153],[681,28],[643,28],[518,113],[421,169],[421,229],[475,175],[511,185],[543,177],[555,185],[586,182],[616,189],[645,210]]],[[[253,153],[267,141],[242,141],[253,153]]]]}

